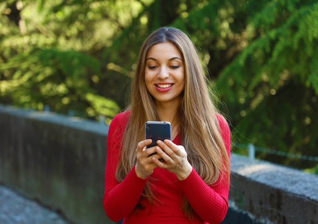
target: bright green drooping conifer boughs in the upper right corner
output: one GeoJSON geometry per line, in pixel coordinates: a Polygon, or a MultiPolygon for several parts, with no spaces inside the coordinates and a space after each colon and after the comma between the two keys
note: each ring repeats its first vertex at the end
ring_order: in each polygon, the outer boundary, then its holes
{"type": "Polygon", "coordinates": [[[236,100],[233,93],[244,87],[241,83],[246,79],[250,81],[248,90],[255,89],[264,82],[276,89],[283,85],[285,79],[293,77],[299,83],[313,87],[318,93],[315,63],[318,20],[314,19],[318,18],[318,4],[304,5],[287,12],[283,3],[285,1],[269,4],[251,19],[252,22],[248,24],[250,36],[255,36],[256,33],[260,35],[222,72],[218,82],[227,81],[230,84],[228,89],[235,88],[235,91],[229,91],[232,93],[229,95],[230,101],[236,100]],[[281,16],[276,11],[284,13],[281,16]],[[286,14],[289,16],[284,19],[286,14]],[[272,24],[275,21],[284,23],[272,24]]]}

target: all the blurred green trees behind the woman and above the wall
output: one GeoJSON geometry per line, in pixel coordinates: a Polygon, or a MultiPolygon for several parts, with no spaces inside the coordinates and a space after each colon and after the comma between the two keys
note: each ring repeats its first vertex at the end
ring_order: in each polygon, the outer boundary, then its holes
{"type": "Polygon", "coordinates": [[[318,173],[316,0],[8,0],[0,20],[1,104],[109,123],[147,34],[175,26],[198,46],[233,150],[318,173]]]}

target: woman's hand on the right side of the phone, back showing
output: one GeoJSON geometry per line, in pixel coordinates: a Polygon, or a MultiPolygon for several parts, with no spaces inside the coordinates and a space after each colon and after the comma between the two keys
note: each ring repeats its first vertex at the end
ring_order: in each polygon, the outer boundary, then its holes
{"type": "Polygon", "coordinates": [[[152,157],[152,162],[158,167],[167,169],[174,173],[178,180],[186,179],[192,172],[192,166],[187,160],[187,154],[182,145],[176,145],[170,140],[157,141],[155,150],[162,156],[165,162],[161,162],[156,157],[152,157]]]}

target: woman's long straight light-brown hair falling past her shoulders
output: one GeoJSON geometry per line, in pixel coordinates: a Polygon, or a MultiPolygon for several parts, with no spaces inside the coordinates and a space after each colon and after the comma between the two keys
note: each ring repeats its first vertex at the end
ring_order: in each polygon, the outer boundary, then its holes
{"type": "MultiPolygon", "coordinates": [[[[181,30],[162,27],[155,30],[143,43],[135,77],[132,83],[131,115],[122,138],[121,157],[116,170],[116,179],[121,182],[136,164],[138,142],[144,140],[144,123],[158,120],[157,109],[145,84],[144,73],[149,49],[158,43],[171,42],[181,52],[185,68],[185,87],[178,110],[178,123],[182,130],[182,145],[186,149],[189,163],[207,184],[213,184],[219,175],[230,178],[230,162],[226,146],[219,133],[216,118],[218,112],[211,100],[207,86],[205,67],[202,66],[198,51],[181,30]]],[[[145,186],[143,196],[150,204],[154,195],[150,188],[151,179],[145,186]]],[[[140,208],[140,205],[136,207],[140,208]]],[[[193,210],[184,197],[182,209],[187,217],[193,210]]]]}

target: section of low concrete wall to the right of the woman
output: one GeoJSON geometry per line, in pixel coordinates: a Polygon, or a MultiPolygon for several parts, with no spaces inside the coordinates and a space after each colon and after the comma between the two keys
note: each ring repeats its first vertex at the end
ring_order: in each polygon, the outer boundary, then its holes
{"type": "Polygon", "coordinates": [[[232,154],[231,206],[263,223],[318,224],[318,176],[232,154]]]}

